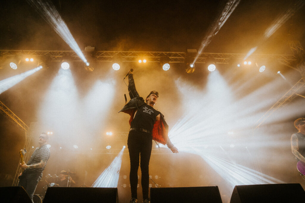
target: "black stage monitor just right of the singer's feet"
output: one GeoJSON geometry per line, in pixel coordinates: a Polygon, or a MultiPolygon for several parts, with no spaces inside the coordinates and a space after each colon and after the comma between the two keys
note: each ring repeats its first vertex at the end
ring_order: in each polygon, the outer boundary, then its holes
{"type": "Polygon", "coordinates": [[[218,186],[150,188],[151,203],[222,203],[218,186]]]}

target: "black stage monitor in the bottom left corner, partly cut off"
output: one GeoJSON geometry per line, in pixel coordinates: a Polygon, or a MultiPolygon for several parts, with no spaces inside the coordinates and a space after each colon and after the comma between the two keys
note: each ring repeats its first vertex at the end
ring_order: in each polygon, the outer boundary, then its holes
{"type": "Polygon", "coordinates": [[[32,203],[29,195],[21,186],[0,187],[1,202],[10,203],[32,203]]]}

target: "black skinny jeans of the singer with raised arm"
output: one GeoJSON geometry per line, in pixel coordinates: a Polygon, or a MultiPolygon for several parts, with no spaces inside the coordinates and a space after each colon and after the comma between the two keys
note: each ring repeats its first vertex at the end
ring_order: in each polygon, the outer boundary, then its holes
{"type": "Polygon", "coordinates": [[[127,146],[129,150],[130,158],[130,187],[131,197],[137,198],[137,186],[138,186],[138,168],[139,158],[141,156],[141,185],[143,199],[148,198],[149,190],[149,159],[152,152],[152,135],[146,132],[130,131],[128,135],[127,146]]]}

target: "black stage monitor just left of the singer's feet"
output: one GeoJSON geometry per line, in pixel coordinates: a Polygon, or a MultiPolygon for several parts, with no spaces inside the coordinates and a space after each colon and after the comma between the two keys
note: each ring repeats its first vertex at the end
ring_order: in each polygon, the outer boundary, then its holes
{"type": "Polygon", "coordinates": [[[117,203],[117,188],[106,187],[49,187],[43,203],[107,202],[117,203]]]}

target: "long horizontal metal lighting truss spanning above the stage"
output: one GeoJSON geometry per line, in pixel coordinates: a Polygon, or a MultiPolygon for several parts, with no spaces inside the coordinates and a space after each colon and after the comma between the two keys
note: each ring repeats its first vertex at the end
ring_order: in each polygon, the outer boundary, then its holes
{"type": "MultiPolygon", "coordinates": [[[[82,61],[74,51],[24,51],[24,50],[0,50],[2,56],[16,56],[16,55],[31,55],[33,57],[45,56],[48,61],[61,61],[62,57],[68,56],[71,61],[82,61]]],[[[88,53],[84,52],[85,57],[88,53]]],[[[201,53],[197,58],[196,63],[205,63],[207,58],[215,59],[217,64],[229,64],[232,59],[243,60],[246,54],[230,54],[230,53],[201,53]]],[[[145,57],[148,62],[160,62],[161,57],[170,58],[170,63],[185,63],[187,52],[161,52],[161,51],[95,51],[93,57],[95,61],[112,62],[113,57],[120,56],[122,62],[136,62],[138,57],[145,57]]],[[[264,59],[274,58],[279,63],[292,66],[292,62],[297,58],[292,54],[252,54],[252,56],[264,59]]]]}

